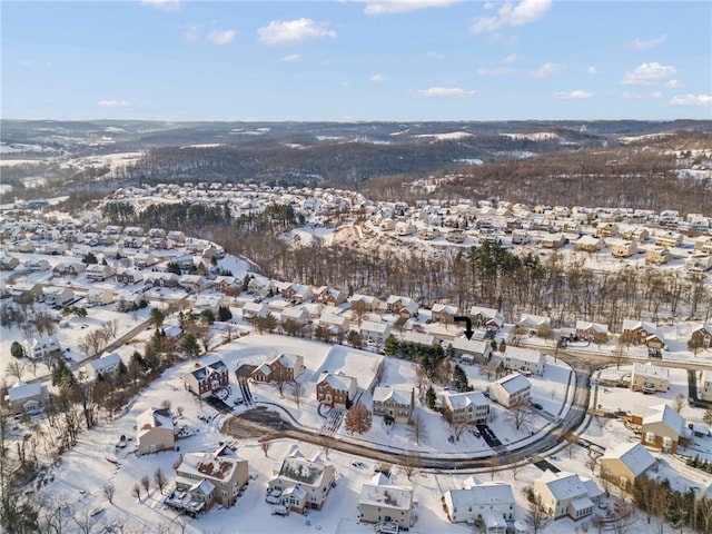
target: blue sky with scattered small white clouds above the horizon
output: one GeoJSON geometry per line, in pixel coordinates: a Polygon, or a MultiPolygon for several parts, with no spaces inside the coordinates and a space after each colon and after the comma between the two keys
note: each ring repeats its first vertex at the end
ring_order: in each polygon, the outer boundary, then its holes
{"type": "Polygon", "coordinates": [[[2,1],[26,119],[711,119],[712,2],[2,1]]]}

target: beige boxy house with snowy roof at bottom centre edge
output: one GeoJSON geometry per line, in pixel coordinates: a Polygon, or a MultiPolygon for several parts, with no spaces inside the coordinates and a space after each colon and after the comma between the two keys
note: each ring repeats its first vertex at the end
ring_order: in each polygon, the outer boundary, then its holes
{"type": "Polygon", "coordinates": [[[360,486],[358,515],[364,523],[397,523],[409,528],[412,511],[413,490],[390,484],[383,473],[360,486]]]}

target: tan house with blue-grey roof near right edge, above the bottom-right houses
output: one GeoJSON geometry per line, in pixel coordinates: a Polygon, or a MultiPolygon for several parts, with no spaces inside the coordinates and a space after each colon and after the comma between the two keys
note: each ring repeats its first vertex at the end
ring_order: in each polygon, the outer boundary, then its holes
{"type": "Polygon", "coordinates": [[[664,453],[674,454],[678,445],[686,446],[690,429],[685,427],[685,419],[672,406],[661,404],[649,411],[640,409],[644,415],[634,415],[633,424],[641,427],[641,443],[664,453]]]}

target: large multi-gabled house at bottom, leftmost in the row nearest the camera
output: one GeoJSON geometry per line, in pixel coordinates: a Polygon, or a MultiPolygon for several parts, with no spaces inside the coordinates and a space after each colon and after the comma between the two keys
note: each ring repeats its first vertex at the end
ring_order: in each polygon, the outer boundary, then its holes
{"type": "Polygon", "coordinates": [[[194,516],[216,502],[231,506],[248,479],[247,461],[226,446],[215,453],[186,453],[176,467],[176,492],[165,503],[194,516]]]}

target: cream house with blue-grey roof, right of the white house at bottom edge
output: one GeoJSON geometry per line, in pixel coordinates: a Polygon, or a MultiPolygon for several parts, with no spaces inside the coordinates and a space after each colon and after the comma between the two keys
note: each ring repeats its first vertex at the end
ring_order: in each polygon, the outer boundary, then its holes
{"type": "Polygon", "coordinates": [[[575,473],[545,471],[534,481],[534,496],[544,511],[554,520],[568,515],[578,521],[591,515],[593,500],[602,492],[590,478],[575,473]]]}

